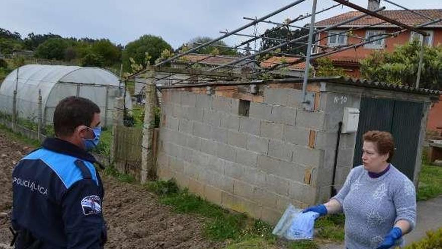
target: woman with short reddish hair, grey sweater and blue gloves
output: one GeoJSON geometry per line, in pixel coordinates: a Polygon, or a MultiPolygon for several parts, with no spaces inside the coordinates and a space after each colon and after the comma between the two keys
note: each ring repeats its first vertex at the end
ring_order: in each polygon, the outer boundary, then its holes
{"type": "Polygon", "coordinates": [[[414,185],[390,163],[394,154],[390,133],[368,131],[363,140],[363,165],[350,172],[336,196],[304,212],[326,215],[343,211],[348,249],[401,246],[402,235],[416,222],[414,185]]]}

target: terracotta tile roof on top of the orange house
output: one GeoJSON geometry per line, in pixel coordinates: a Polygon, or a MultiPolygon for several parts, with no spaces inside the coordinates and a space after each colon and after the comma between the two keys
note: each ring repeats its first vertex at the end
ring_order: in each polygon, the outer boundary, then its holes
{"type": "MultiPolygon", "coordinates": [[[[442,9],[413,10],[413,11],[423,14],[425,16],[429,16],[433,19],[442,18],[442,9]]],[[[430,21],[427,18],[421,17],[419,15],[416,15],[416,14],[406,11],[406,10],[380,11],[378,13],[383,16],[394,19],[396,21],[399,21],[401,23],[410,25],[410,26],[423,24],[423,23],[430,21]]],[[[328,18],[328,19],[319,21],[319,22],[315,23],[315,26],[319,26],[319,27],[330,26],[330,25],[334,25],[339,22],[348,20],[353,17],[361,16],[361,15],[363,15],[362,12],[351,11],[351,12],[347,12],[347,13],[332,17],[332,18],[328,18]]],[[[367,16],[367,17],[361,18],[359,20],[353,21],[353,22],[351,22],[347,25],[344,25],[342,27],[361,27],[361,26],[366,26],[366,25],[377,24],[380,22],[383,22],[383,20],[375,18],[375,17],[367,16]]],[[[390,23],[384,23],[382,25],[379,25],[379,27],[386,27],[386,26],[392,26],[392,25],[393,24],[390,24],[390,23]]],[[[439,26],[439,27],[442,26],[442,21],[432,24],[432,25],[429,25],[427,27],[434,27],[434,26],[439,26]]]]}

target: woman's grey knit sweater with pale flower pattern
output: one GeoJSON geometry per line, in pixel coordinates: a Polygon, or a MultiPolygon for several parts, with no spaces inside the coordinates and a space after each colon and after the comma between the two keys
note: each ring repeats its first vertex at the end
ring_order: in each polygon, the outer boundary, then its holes
{"type": "Polygon", "coordinates": [[[362,165],[354,168],[332,199],[343,206],[349,249],[376,248],[398,220],[407,220],[412,228],[416,222],[414,185],[393,165],[379,178],[370,178],[362,165]]]}

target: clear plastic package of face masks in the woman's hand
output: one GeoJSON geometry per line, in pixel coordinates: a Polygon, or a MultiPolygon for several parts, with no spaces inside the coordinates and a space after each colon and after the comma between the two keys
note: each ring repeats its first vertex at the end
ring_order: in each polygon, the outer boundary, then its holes
{"type": "Polygon", "coordinates": [[[319,214],[302,211],[289,204],[272,233],[289,240],[312,239],[314,220],[319,214]]]}

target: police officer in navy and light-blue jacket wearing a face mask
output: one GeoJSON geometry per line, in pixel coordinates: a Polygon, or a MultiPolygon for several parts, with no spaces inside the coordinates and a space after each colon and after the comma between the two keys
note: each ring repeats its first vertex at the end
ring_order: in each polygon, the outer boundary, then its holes
{"type": "Polygon", "coordinates": [[[87,150],[98,144],[100,110],[90,100],[63,99],[55,138],[25,156],[13,172],[15,248],[102,248],[103,185],[87,150]]]}

